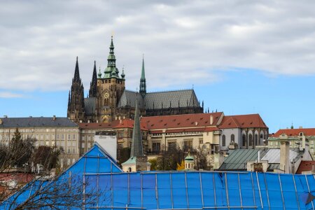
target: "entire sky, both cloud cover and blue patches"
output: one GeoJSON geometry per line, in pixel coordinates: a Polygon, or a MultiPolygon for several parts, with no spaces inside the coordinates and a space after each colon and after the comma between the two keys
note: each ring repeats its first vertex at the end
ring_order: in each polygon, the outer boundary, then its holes
{"type": "MultiPolygon", "coordinates": [[[[0,117],[66,116],[111,35],[126,89],[194,88],[210,111],[315,127],[315,1],[0,1],[0,117]]],[[[85,95],[86,95],[85,94],[85,95]]]]}

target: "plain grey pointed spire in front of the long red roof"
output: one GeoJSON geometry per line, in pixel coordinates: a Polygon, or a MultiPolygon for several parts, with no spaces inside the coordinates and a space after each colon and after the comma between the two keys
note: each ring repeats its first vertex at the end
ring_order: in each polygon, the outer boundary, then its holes
{"type": "Polygon", "coordinates": [[[138,95],[136,97],[136,110],[134,113],[134,130],[132,132],[132,148],[130,152],[130,158],[137,156],[144,156],[144,151],[142,150],[142,135],[138,108],[138,95]]]}

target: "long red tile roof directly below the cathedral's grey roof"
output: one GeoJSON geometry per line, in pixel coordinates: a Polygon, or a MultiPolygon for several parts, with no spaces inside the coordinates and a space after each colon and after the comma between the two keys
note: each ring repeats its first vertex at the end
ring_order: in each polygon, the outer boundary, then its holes
{"type": "Polygon", "coordinates": [[[183,128],[183,127],[211,127],[218,124],[223,112],[195,113],[174,116],[153,116],[141,118],[141,123],[146,124],[148,130],[183,128]],[[213,123],[210,124],[210,116],[213,123]]]}

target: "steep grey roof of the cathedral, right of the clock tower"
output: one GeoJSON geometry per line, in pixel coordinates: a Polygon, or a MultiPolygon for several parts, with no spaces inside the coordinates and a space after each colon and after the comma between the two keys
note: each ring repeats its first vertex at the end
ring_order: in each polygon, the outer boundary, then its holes
{"type": "MultiPolygon", "coordinates": [[[[118,107],[131,106],[135,107],[136,92],[125,90],[118,107]]],[[[174,90],[165,92],[148,92],[144,99],[138,94],[139,108],[141,109],[168,109],[172,108],[195,106],[200,107],[197,96],[194,90],[174,90]]]]}

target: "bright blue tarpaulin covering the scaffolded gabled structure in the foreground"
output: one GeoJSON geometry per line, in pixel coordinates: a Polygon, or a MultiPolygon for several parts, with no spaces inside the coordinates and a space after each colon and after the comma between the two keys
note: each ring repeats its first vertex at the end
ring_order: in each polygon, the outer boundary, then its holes
{"type": "MultiPolygon", "coordinates": [[[[97,191],[85,209],[314,209],[314,201],[307,203],[309,193],[315,194],[314,175],[125,173],[97,144],[62,176],[69,172],[83,177],[82,193],[97,191]]],[[[25,195],[17,200],[23,202],[25,195]]]]}

